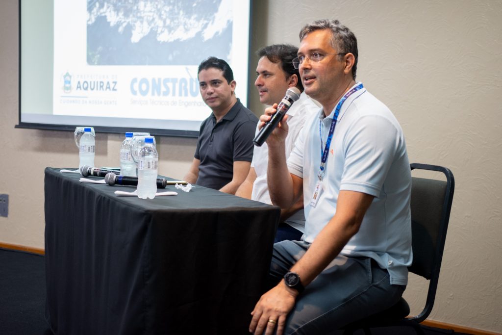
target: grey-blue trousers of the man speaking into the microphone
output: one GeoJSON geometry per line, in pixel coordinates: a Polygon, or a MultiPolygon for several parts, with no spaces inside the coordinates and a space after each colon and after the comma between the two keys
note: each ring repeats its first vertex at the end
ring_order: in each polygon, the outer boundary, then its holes
{"type": "MultiPolygon", "coordinates": [[[[309,243],[283,241],[274,245],[270,284],[305,254],[309,243]]],[[[338,255],[297,297],[289,313],[285,334],[329,334],[340,327],[385,310],[403,294],[406,286],[391,285],[389,273],[366,257],[338,255]]]]}

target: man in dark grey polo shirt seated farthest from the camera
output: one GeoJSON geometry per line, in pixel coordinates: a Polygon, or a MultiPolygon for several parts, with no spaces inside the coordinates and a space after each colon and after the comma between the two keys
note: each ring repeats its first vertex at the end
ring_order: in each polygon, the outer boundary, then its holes
{"type": "Polygon", "coordinates": [[[200,94],[211,115],[200,126],[197,148],[184,179],[235,194],[249,172],[258,118],[235,97],[230,66],[209,57],[198,69],[200,94]]]}

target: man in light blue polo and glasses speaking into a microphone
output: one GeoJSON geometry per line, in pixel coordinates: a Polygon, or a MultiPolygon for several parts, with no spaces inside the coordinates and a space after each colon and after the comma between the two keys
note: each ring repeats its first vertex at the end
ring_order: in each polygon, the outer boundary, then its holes
{"type": "Polygon", "coordinates": [[[280,154],[287,123],[269,136],[268,185],[281,207],[303,191],[305,235],[274,245],[277,285],[252,312],[249,330],[257,334],[327,333],[385,310],[401,297],[412,262],[405,139],[389,108],[355,81],[354,34],[320,20],[302,29],[300,41],[293,62],[322,109],[287,162],[280,154]]]}

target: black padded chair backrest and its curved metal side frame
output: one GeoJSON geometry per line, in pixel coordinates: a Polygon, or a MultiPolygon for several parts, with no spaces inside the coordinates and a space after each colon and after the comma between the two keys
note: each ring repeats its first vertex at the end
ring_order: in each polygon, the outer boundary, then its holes
{"type": "Polygon", "coordinates": [[[424,309],[419,315],[411,318],[422,322],[430,314],[434,305],[455,181],[453,174],[447,168],[417,163],[410,166],[412,170],[438,171],[446,176],[446,181],[412,177],[413,264],[409,270],[429,279],[429,290],[424,309]]]}

